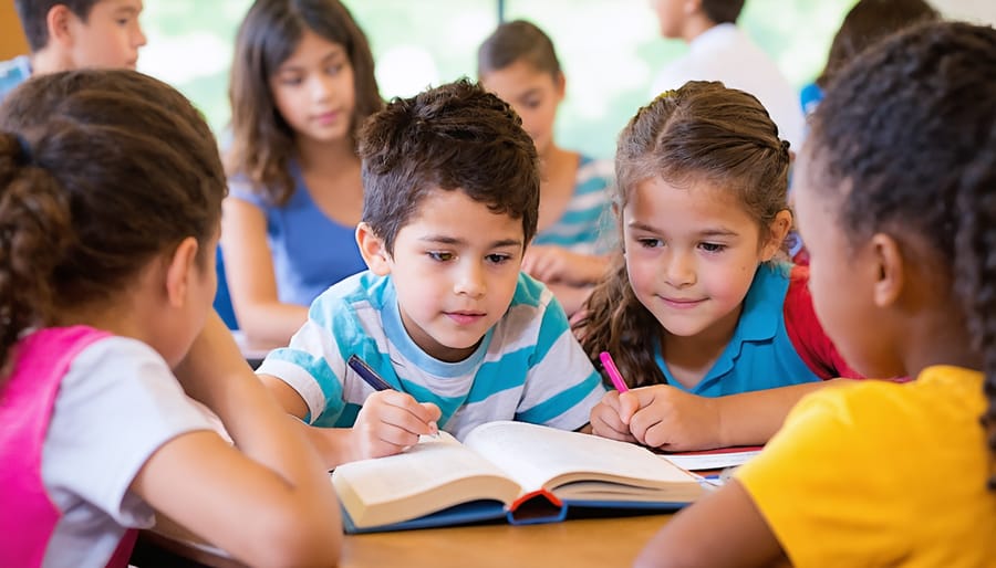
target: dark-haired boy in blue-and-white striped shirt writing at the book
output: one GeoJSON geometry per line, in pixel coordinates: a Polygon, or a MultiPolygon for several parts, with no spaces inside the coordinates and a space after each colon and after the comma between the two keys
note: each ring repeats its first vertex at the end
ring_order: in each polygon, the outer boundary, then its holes
{"type": "Polygon", "coordinates": [[[588,424],[604,389],[542,284],[520,272],[539,172],[521,122],[466,80],[398,98],[360,133],[370,270],[335,284],[258,372],[330,466],[492,420],[588,424]],[[391,383],[375,391],[351,355],[391,383]],[[419,402],[416,402],[419,401],[419,402]]]}

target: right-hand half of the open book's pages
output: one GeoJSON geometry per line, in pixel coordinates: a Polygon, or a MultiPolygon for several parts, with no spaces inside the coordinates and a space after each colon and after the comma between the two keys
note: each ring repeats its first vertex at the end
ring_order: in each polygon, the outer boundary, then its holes
{"type": "Polygon", "coordinates": [[[698,487],[692,474],[645,448],[591,434],[501,421],[475,428],[464,444],[496,463],[527,492],[580,481],[698,487]]]}

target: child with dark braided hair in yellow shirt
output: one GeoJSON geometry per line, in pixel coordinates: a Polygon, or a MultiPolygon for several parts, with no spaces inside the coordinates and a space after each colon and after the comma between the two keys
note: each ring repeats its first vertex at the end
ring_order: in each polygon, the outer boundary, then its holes
{"type": "Polygon", "coordinates": [[[806,397],[639,566],[996,562],[996,30],[928,23],[844,67],[796,208],[817,315],[863,381],[806,397]]]}

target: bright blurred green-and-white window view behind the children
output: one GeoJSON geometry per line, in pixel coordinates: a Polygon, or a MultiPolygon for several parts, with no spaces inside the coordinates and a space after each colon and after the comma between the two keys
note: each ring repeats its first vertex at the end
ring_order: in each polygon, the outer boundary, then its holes
{"type": "MultiPolygon", "coordinates": [[[[819,74],[830,40],[855,0],[748,0],[740,24],[801,87],[819,74]]],[[[220,130],[228,69],[250,0],[145,3],[148,45],[139,69],[172,83],[220,130]]],[[[370,38],[385,98],[476,76],[477,45],[498,23],[497,0],[345,0],[370,38]]],[[[650,99],[656,71],[686,46],[658,35],[647,0],[506,0],[506,18],[553,39],[568,77],[558,141],[608,158],[615,136],[650,99]]]]}

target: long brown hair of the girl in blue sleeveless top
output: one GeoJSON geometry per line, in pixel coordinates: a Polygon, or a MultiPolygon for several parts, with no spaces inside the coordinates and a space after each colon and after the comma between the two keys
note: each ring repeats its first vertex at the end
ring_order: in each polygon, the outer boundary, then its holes
{"type": "Polygon", "coordinates": [[[353,67],[356,92],[351,136],[384,106],[374,61],[363,31],[339,0],[256,0],[239,27],[228,96],[232,145],[226,155],[229,175],[246,176],[253,190],[284,204],[294,190],[288,161],[294,130],[270,92],[270,77],[293,54],[310,30],[343,46],[353,67]]]}

